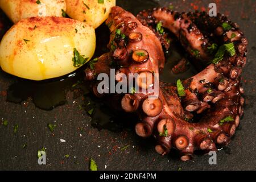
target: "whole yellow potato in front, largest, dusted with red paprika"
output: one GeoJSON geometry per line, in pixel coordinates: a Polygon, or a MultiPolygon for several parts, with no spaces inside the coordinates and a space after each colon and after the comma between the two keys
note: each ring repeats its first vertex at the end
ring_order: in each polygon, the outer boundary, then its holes
{"type": "Polygon", "coordinates": [[[22,19],[3,36],[3,71],[30,80],[66,75],[89,61],[96,47],[94,28],[60,17],[22,19]],[[75,56],[76,55],[76,56],[75,56]]]}

